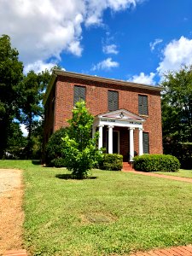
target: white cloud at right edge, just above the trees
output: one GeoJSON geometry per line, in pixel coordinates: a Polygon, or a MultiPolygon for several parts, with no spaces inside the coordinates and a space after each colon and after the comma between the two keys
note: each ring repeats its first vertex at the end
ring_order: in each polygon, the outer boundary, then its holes
{"type": "Polygon", "coordinates": [[[160,76],[167,71],[176,71],[183,65],[192,64],[192,39],[181,37],[172,40],[163,50],[163,58],[160,61],[157,72],[160,76]]]}

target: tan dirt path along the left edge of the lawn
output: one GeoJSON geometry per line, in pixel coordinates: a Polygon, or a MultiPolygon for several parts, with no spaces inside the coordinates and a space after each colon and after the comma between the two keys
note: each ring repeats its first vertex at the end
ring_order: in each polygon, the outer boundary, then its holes
{"type": "Polygon", "coordinates": [[[0,169],[0,255],[22,248],[23,186],[20,170],[0,169]]]}

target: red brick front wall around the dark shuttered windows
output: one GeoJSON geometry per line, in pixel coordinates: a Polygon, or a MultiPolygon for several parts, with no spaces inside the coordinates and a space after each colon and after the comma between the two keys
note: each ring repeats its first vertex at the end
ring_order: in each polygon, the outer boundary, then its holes
{"type": "MultiPolygon", "coordinates": [[[[53,131],[67,125],[67,119],[72,118],[73,109],[73,86],[80,85],[86,88],[86,106],[90,113],[97,115],[108,112],[108,90],[119,91],[119,109],[124,108],[132,113],[138,113],[138,95],[148,96],[148,117],[143,117],[146,121],[143,124],[145,132],[149,133],[149,153],[162,153],[162,134],[161,134],[161,110],[160,110],[160,91],[129,87],[128,85],[107,84],[97,81],[84,79],[74,79],[58,76],[55,87],[55,122],[53,117],[46,121],[45,130],[53,131]],[[54,125],[53,125],[54,124],[54,125]]],[[[53,94],[54,92],[52,92],[53,94]]],[[[51,96],[49,96],[51,99],[51,96]]],[[[49,102],[49,100],[48,100],[49,102]]],[[[49,107],[50,108],[50,107],[49,107]]],[[[119,129],[115,127],[115,129],[119,129]]],[[[121,129],[122,130],[122,129],[121,129]]],[[[127,152],[129,144],[129,131],[123,129],[120,136],[120,149],[127,152]]],[[[104,136],[104,135],[103,135],[104,136]]],[[[104,138],[103,138],[104,140],[104,138]]],[[[134,144],[138,152],[138,131],[134,131],[134,144]]]]}

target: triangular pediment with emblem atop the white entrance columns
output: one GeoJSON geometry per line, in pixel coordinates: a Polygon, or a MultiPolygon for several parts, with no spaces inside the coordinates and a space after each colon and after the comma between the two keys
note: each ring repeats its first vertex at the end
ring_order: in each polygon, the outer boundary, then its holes
{"type": "Polygon", "coordinates": [[[115,111],[101,113],[97,115],[98,118],[107,118],[107,119],[123,119],[123,120],[135,120],[135,121],[145,121],[145,119],[141,118],[135,113],[131,113],[125,109],[118,109],[115,111]]]}

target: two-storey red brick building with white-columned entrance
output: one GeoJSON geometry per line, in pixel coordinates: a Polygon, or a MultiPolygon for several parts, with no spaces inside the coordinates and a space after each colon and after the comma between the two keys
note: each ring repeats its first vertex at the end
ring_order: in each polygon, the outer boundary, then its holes
{"type": "Polygon", "coordinates": [[[160,87],[55,70],[44,97],[44,144],[72,118],[83,99],[95,116],[98,147],[119,153],[124,161],[135,154],[162,154],[160,87]]]}

